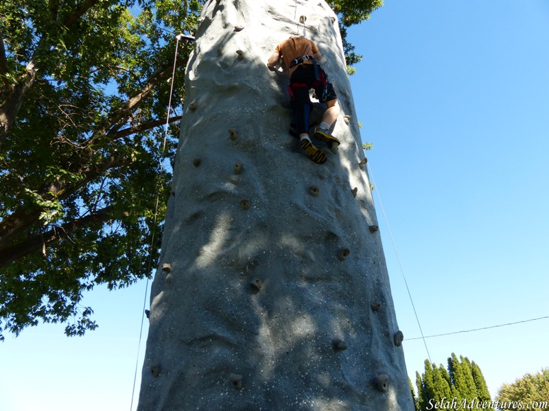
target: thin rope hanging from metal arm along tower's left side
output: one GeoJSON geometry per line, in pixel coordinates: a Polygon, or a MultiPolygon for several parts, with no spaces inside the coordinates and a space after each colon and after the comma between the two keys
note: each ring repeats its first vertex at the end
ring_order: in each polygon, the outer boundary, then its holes
{"type": "MultiPolygon", "coordinates": [[[[176,51],[174,55],[174,69],[172,70],[172,84],[170,86],[170,99],[167,103],[167,116],[166,116],[166,124],[164,128],[164,140],[162,143],[162,153],[165,153],[166,149],[166,140],[167,140],[167,129],[168,125],[170,125],[170,112],[172,111],[172,95],[174,93],[174,77],[176,74],[176,65],[177,65],[177,53],[179,48],[179,40],[181,38],[187,38],[194,40],[194,38],[190,38],[189,36],[185,36],[184,34],[178,34],[176,36],[176,51]]],[[[161,171],[164,171],[164,165],[162,162],[160,163],[160,169],[161,171]]],[[[160,183],[159,183],[160,184],[160,183]]],[[[154,250],[154,242],[156,237],[156,221],[158,217],[159,212],[159,203],[160,203],[160,192],[161,190],[157,190],[158,194],[156,195],[156,206],[154,206],[154,223],[152,225],[152,234],[151,234],[151,242],[150,242],[150,253],[149,253],[149,261],[147,265],[147,272],[150,273],[152,271],[152,251],[154,250]]],[[[133,399],[135,396],[135,384],[137,382],[137,370],[139,368],[139,352],[141,351],[141,340],[143,338],[143,325],[145,323],[145,307],[147,306],[147,293],[149,289],[149,278],[147,277],[147,281],[145,282],[145,297],[143,298],[143,309],[141,310],[141,327],[139,329],[139,342],[137,343],[137,358],[135,360],[135,373],[133,376],[133,386],[132,386],[132,401],[130,403],[130,411],[132,411],[133,408],[133,399]]]]}

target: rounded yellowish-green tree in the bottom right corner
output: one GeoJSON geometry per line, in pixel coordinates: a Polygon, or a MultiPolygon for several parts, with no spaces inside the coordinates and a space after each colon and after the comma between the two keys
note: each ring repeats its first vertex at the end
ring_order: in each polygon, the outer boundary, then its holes
{"type": "MultiPolygon", "coordinates": [[[[549,402],[549,368],[541,369],[538,373],[526,373],[522,377],[515,379],[511,384],[502,384],[495,396],[500,405],[502,403],[536,403],[541,410],[545,403],[545,408],[549,402]]],[[[502,407],[503,408],[503,407],[502,407]]],[[[511,408],[507,408],[511,409],[511,408]]]]}

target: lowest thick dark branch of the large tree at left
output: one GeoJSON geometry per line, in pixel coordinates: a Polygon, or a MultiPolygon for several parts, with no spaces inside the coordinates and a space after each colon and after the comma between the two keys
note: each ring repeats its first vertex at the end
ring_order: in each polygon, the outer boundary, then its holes
{"type": "Polygon", "coordinates": [[[80,219],[69,221],[68,223],[60,225],[58,227],[54,227],[48,232],[45,232],[43,234],[37,234],[10,247],[0,249],[0,269],[10,264],[10,262],[14,260],[43,249],[45,245],[50,244],[51,242],[68,237],[72,232],[77,229],[95,223],[102,223],[104,221],[107,221],[108,219],[111,219],[112,211],[113,206],[102,208],[101,210],[97,210],[96,212],[93,212],[92,214],[84,216],[80,219]]]}

